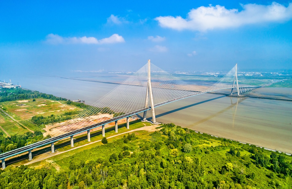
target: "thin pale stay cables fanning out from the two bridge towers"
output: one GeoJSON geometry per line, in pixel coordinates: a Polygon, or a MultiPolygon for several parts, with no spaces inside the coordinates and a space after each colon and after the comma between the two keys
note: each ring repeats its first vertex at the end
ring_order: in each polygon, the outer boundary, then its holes
{"type": "MultiPolygon", "coordinates": [[[[154,104],[205,91],[231,88],[235,78],[235,67],[233,67],[223,78],[219,79],[219,81],[209,89],[202,90],[197,86],[174,77],[172,74],[169,74],[152,63],[150,67],[154,104]]],[[[144,108],[147,87],[148,64],[145,64],[127,80],[122,82],[97,102],[93,103],[93,105],[86,108],[74,119],[63,123],[59,129],[50,133],[50,136],[58,136],[105,121],[115,116],[144,108]]],[[[148,104],[148,106],[150,105],[148,104]]]]}

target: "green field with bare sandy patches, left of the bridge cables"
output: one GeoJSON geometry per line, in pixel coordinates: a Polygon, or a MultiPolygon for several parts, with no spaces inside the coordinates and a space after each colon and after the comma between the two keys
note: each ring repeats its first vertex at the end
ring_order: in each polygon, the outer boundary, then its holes
{"type": "Polygon", "coordinates": [[[32,99],[2,102],[0,103],[0,107],[19,121],[31,119],[35,115],[61,115],[68,111],[81,110],[71,105],[42,98],[36,99],[35,102],[32,99]]]}

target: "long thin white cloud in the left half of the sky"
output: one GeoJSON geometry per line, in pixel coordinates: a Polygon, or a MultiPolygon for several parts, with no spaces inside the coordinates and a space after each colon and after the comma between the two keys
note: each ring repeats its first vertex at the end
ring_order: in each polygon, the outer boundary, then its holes
{"type": "Polygon", "coordinates": [[[49,34],[46,36],[46,42],[50,44],[109,44],[125,42],[124,38],[119,34],[113,34],[109,38],[98,40],[95,37],[62,37],[57,34],[49,34]]]}

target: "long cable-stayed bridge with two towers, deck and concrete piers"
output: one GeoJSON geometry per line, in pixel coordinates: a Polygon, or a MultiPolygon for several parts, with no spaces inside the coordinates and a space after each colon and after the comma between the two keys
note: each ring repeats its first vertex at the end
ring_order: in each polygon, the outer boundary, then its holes
{"type": "Polygon", "coordinates": [[[232,96],[241,97],[245,92],[268,86],[275,82],[261,86],[251,86],[238,81],[237,64],[214,85],[210,87],[196,86],[174,77],[172,74],[153,65],[150,60],[127,80],[122,82],[104,97],[90,107],[86,108],[74,119],[63,124],[49,136],[42,140],[12,151],[2,153],[2,168],[5,168],[5,159],[28,151],[29,160],[32,160],[31,151],[35,148],[51,144],[52,153],[55,152],[54,142],[70,137],[71,147],[74,147],[73,136],[87,132],[90,142],[90,130],[96,127],[102,128],[102,136],[105,136],[105,125],[115,122],[115,132],[118,132],[117,121],[125,119],[129,129],[129,117],[144,112],[143,120],[146,120],[146,112],[151,110],[152,122],[156,123],[155,108],[181,99],[218,90],[231,90],[232,96]],[[107,116],[105,116],[107,115],[107,116]]]}

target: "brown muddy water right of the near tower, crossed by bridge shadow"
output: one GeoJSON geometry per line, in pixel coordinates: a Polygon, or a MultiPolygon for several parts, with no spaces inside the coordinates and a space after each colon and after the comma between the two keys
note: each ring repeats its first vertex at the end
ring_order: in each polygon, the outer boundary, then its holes
{"type": "Polygon", "coordinates": [[[155,111],[158,122],[292,152],[292,102],[202,94],[155,111]]]}

